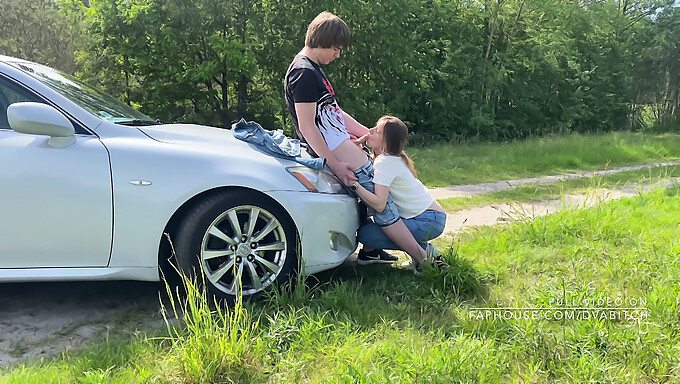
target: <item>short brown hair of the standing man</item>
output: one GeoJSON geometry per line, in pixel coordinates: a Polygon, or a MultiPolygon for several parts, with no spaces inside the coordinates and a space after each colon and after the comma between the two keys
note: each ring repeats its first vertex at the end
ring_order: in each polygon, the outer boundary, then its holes
{"type": "Polygon", "coordinates": [[[305,46],[309,48],[349,48],[349,28],[338,16],[321,12],[307,28],[305,46]]]}

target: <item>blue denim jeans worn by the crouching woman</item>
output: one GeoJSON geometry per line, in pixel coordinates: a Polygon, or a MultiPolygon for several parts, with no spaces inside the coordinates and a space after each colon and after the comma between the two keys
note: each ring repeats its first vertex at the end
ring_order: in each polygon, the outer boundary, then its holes
{"type": "MultiPolygon", "coordinates": [[[[416,217],[403,220],[406,227],[411,231],[413,237],[423,249],[426,249],[428,241],[441,235],[446,226],[446,214],[439,211],[427,210],[416,217]]],[[[357,240],[363,245],[372,248],[400,249],[392,240],[385,236],[380,226],[370,221],[359,227],[357,240]]]]}

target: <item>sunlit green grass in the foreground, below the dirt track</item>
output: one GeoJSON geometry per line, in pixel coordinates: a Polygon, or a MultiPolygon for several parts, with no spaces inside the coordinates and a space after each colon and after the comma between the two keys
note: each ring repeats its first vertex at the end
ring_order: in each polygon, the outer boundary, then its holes
{"type": "Polygon", "coordinates": [[[0,370],[0,382],[679,382],[679,192],[440,239],[452,265],[444,272],[344,265],[226,312],[197,291],[186,321],[163,337],[102,341],[0,370]],[[640,300],[648,318],[480,319],[475,310],[602,298],[640,300]]]}

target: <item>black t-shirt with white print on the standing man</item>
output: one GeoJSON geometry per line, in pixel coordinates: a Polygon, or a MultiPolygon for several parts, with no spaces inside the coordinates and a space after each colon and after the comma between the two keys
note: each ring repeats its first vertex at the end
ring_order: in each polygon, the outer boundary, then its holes
{"type": "MultiPolygon", "coordinates": [[[[295,56],[286,72],[284,88],[286,106],[293,118],[300,141],[307,142],[300,132],[295,103],[316,103],[314,121],[329,149],[333,150],[341,142],[349,139],[342,111],[335,100],[333,86],[318,64],[307,56],[295,56]]],[[[308,148],[308,151],[312,156],[316,156],[311,148],[308,148]]]]}

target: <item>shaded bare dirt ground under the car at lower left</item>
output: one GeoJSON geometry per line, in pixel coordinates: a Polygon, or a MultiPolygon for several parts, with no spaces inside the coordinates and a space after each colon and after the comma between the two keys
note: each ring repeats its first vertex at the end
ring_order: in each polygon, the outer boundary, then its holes
{"type": "Polygon", "coordinates": [[[107,334],[163,325],[160,283],[63,282],[0,286],[0,367],[83,348],[107,334]]]}

